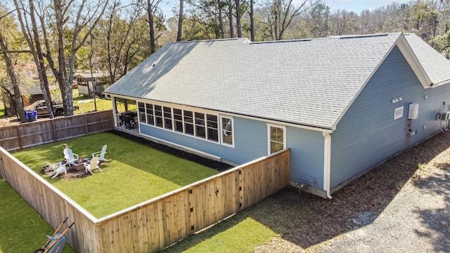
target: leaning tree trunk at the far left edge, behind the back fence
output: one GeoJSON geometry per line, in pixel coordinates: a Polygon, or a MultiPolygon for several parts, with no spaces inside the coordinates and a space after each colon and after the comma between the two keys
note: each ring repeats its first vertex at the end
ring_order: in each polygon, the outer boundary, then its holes
{"type": "Polygon", "coordinates": [[[27,122],[27,118],[25,117],[25,111],[23,109],[23,100],[22,95],[20,94],[19,84],[17,77],[15,77],[14,67],[13,63],[11,62],[11,58],[9,57],[8,50],[6,48],[6,45],[4,43],[3,36],[1,35],[0,31],[0,48],[1,52],[3,53],[3,58],[6,62],[6,70],[8,70],[9,78],[11,79],[11,84],[13,85],[13,91],[14,91],[14,101],[15,101],[15,113],[19,115],[20,122],[24,123],[27,122]]]}

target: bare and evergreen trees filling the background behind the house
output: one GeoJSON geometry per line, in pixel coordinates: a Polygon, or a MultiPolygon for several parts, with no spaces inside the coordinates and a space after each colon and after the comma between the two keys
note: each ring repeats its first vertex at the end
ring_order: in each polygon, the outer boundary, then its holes
{"type": "Polygon", "coordinates": [[[69,116],[75,71],[106,70],[114,83],[170,41],[233,37],[413,32],[450,58],[449,7],[449,0],[420,0],[355,13],[316,0],[0,0],[0,86],[20,109],[31,75],[47,101],[49,85],[58,85],[69,116]]]}

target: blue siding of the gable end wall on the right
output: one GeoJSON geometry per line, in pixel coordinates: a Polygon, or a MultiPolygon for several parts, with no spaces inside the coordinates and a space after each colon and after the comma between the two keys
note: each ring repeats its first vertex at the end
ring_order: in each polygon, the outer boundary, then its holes
{"type": "Polygon", "coordinates": [[[449,100],[450,85],[424,89],[394,47],[331,134],[331,187],[436,134],[441,127],[437,113],[450,109],[449,100]],[[399,96],[403,100],[392,103],[399,96]],[[408,140],[411,103],[419,104],[411,127],[418,133],[408,140]],[[400,106],[403,117],[394,120],[394,109],[400,106]]]}

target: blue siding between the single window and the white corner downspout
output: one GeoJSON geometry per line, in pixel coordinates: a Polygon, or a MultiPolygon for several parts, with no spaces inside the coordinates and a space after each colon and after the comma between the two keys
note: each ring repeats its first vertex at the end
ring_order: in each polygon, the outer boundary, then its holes
{"type": "Polygon", "coordinates": [[[290,180],[323,188],[323,134],[288,126],[286,147],[290,148],[290,180]]]}

